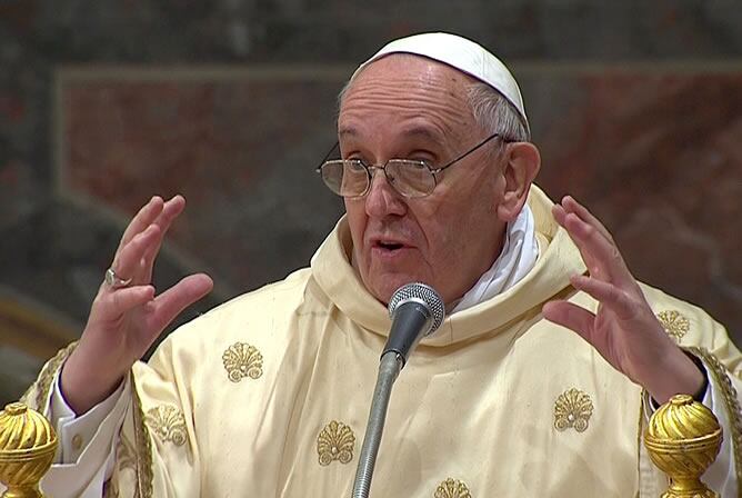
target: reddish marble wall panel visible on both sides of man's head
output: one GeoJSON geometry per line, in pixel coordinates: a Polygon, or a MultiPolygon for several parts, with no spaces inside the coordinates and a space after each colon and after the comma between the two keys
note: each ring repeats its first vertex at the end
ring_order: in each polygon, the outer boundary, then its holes
{"type": "MultiPolygon", "coordinates": [[[[639,278],[742,342],[742,72],[521,77],[539,182],[611,229],[639,278]]],[[[338,213],[312,169],[341,81],[76,79],[63,84],[62,188],[132,213],[183,192],[178,247],[232,289],[305,265],[338,213]]]]}

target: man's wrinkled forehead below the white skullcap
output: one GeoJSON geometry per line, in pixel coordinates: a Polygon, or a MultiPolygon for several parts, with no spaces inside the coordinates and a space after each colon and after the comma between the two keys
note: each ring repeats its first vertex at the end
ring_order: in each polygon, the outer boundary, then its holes
{"type": "Polygon", "coordinates": [[[473,79],[420,56],[394,53],[369,64],[345,90],[338,118],[341,135],[359,128],[429,128],[461,138],[473,116],[473,79]]]}

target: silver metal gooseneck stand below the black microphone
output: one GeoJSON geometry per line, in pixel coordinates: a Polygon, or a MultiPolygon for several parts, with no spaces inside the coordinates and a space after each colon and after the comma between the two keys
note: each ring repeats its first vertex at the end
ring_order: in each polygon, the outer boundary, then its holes
{"type": "Polygon", "coordinates": [[[397,351],[388,351],[381,357],[379,363],[379,377],[377,377],[377,387],[373,390],[371,400],[371,412],[369,414],[369,424],[365,427],[363,436],[363,447],[355,470],[355,481],[353,484],[352,498],[368,498],[371,488],[371,478],[373,477],[373,467],[377,464],[377,455],[381,445],[381,435],[384,431],[384,420],[387,419],[387,408],[389,398],[392,395],[392,386],[397,380],[404,358],[397,351]]]}

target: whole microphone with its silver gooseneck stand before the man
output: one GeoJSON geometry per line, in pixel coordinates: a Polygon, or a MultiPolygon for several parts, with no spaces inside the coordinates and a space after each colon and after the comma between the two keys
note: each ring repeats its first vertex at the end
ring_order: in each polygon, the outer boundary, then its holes
{"type": "Polygon", "coordinates": [[[381,353],[379,376],[358,460],[352,498],[369,496],[394,381],[420,339],[433,333],[441,326],[445,317],[445,307],[432,287],[424,283],[408,283],[397,289],[390,299],[389,315],[392,318],[392,327],[381,353]]]}

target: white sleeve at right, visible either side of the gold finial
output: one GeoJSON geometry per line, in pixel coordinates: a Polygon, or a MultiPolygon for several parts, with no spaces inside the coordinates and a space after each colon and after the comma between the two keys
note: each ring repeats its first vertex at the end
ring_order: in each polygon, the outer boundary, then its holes
{"type": "MultiPolygon", "coordinates": [[[[706,378],[709,385],[702,402],[716,416],[719,425],[723,431],[723,439],[716,459],[711,467],[706,469],[701,480],[703,480],[711,490],[716,491],[720,498],[736,498],[739,496],[736,494],[739,484],[736,481],[736,472],[734,468],[734,449],[732,448],[731,436],[734,431],[732,430],[729,414],[724,405],[724,396],[721,387],[718,385],[714,376],[706,372],[706,378]]],[[[644,392],[644,411],[646,414],[646,419],[649,420],[660,407],[646,391],[644,392]]]]}

